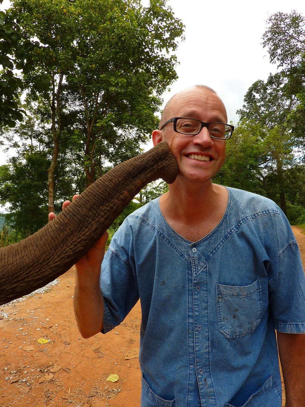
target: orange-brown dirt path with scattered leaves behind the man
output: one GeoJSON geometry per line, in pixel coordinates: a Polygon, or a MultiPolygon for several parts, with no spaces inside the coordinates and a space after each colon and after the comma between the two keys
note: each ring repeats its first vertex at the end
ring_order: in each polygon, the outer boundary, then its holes
{"type": "MultiPolygon", "coordinates": [[[[305,264],[305,234],[293,230],[305,264]]],[[[0,407],[139,406],[140,305],[113,332],[83,339],[72,311],[74,272],[44,294],[0,306],[0,407]],[[119,380],[107,381],[110,374],[119,380]]]]}

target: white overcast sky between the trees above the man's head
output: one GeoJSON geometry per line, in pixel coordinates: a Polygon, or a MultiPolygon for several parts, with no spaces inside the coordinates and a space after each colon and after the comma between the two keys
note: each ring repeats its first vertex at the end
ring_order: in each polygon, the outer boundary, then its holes
{"type": "MultiPolygon", "coordinates": [[[[148,2],[142,0],[144,6],[148,2]]],[[[2,7],[7,4],[4,0],[2,7]]],[[[234,124],[248,88],[277,70],[261,45],[267,18],[277,11],[305,15],[305,0],[168,0],[167,4],[185,24],[185,41],[176,50],[179,79],[163,94],[164,102],[189,86],[208,85],[220,95],[234,124]]]]}

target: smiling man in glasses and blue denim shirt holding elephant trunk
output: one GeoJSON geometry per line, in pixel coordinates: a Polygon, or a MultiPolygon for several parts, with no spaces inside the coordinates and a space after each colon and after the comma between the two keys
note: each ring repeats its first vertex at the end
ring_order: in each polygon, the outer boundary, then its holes
{"type": "MultiPolygon", "coordinates": [[[[141,405],[305,405],[305,277],[277,205],[213,184],[232,128],[216,92],[195,86],[166,105],[179,175],[76,264],[83,337],[106,333],[141,299],[141,405]],[[277,339],[275,335],[277,329],[277,339]]],[[[229,141],[228,141],[229,142],[229,141]]],[[[65,203],[66,206],[68,202],[65,203]]]]}

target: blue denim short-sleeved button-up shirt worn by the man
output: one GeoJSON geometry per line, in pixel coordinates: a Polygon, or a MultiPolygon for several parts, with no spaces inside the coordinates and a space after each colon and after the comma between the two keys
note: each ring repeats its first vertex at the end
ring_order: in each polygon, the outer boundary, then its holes
{"type": "Polygon", "coordinates": [[[143,407],[281,406],[275,329],[305,333],[298,245],[273,201],[228,192],[224,217],[195,243],[150,202],[102,263],[105,333],[141,299],[143,407]]]}

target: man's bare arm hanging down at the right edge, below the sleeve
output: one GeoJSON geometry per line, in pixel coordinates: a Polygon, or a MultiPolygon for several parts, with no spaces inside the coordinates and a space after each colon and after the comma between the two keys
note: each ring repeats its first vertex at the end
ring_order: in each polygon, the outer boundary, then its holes
{"type": "Polygon", "coordinates": [[[305,333],[277,331],[286,392],[286,407],[305,406],[305,333]]]}

